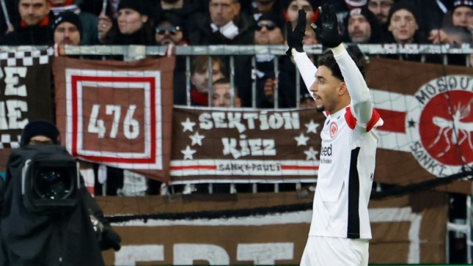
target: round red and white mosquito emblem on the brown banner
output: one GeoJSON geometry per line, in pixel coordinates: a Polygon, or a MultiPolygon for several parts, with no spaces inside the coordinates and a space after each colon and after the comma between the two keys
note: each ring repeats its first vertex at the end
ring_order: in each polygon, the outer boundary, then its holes
{"type": "Polygon", "coordinates": [[[473,78],[448,75],[423,84],[406,116],[410,150],[430,173],[457,173],[473,166],[473,78]]]}

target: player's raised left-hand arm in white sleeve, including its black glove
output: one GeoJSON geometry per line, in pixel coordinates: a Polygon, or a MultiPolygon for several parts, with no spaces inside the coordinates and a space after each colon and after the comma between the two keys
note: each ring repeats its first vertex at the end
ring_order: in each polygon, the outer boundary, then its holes
{"type": "MultiPolygon", "coordinates": [[[[314,81],[316,81],[316,71],[317,67],[313,65],[312,61],[308,58],[307,54],[304,52],[302,48],[302,40],[305,36],[305,10],[300,9],[298,11],[299,17],[297,18],[297,25],[292,30],[292,24],[290,21],[287,22],[287,45],[289,49],[287,49],[286,54],[292,55],[294,61],[296,63],[297,69],[299,69],[300,75],[302,76],[302,80],[304,80],[305,87],[310,95],[312,92],[309,91],[310,86],[314,81]]],[[[313,96],[312,96],[313,97],[313,96]]]]}

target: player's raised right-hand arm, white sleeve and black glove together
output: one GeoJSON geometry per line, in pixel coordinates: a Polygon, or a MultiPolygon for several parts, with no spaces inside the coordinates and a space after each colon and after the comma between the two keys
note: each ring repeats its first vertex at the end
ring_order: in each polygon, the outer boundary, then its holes
{"type": "Polygon", "coordinates": [[[325,4],[322,7],[321,18],[315,31],[322,45],[332,50],[334,58],[340,67],[348,93],[350,94],[350,108],[353,116],[359,124],[366,125],[370,121],[373,111],[371,96],[358,66],[342,44],[341,36],[338,32],[337,15],[332,6],[329,7],[328,4],[325,4]]]}

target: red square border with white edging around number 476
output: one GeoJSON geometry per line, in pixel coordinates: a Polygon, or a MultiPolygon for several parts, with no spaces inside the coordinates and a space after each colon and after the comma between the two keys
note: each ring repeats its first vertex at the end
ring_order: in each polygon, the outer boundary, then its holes
{"type": "MultiPolygon", "coordinates": [[[[147,164],[148,167],[147,168],[159,168],[161,169],[162,168],[162,162],[159,162],[157,161],[157,158],[156,158],[156,149],[157,149],[157,139],[158,137],[156,136],[156,133],[159,133],[157,132],[156,130],[156,111],[160,111],[160,110],[156,110],[156,78],[159,78],[159,76],[141,76],[141,77],[136,77],[136,76],[112,76],[112,74],[115,73],[115,71],[106,71],[107,73],[109,73],[110,75],[107,75],[107,76],[91,76],[91,75],[77,75],[77,71],[74,71],[74,70],[78,70],[82,73],[86,72],[84,71],[84,69],[82,70],[79,70],[79,69],[67,69],[67,70],[71,70],[72,72],[75,72],[74,74],[70,74],[71,72],[69,71],[66,71],[66,79],[70,78],[70,87],[69,89],[67,90],[68,93],[70,93],[68,95],[68,99],[70,99],[71,101],[71,106],[69,106],[68,109],[68,112],[71,117],[72,117],[72,123],[71,123],[71,145],[70,145],[70,152],[73,156],[80,156],[84,159],[89,159],[89,160],[94,160],[94,161],[101,161],[101,162],[108,162],[108,163],[116,163],[116,164],[120,164],[120,163],[124,163],[124,164],[147,164]],[[67,73],[68,72],[68,73],[67,73]],[[83,82],[83,81],[90,81],[90,82],[112,82],[112,83],[117,83],[117,82],[126,82],[126,83],[132,83],[132,82],[136,82],[136,83],[148,83],[149,84],[149,92],[144,94],[144,101],[146,101],[146,98],[149,97],[149,121],[146,121],[147,119],[147,115],[144,116],[144,119],[145,119],[145,125],[148,124],[150,125],[149,126],[149,131],[150,131],[150,134],[149,134],[149,147],[150,147],[150,152],[149,152],[149,156],[147,156],[146,158],[136,158],[131,155],[130,157],[131,158],[124,158],[124,157],[111,157],[111,156],[91,156],[91,155],[84,155],[84,154],[81,154],[80,151],[78,151],[78,142],[77,142],[77,139],[78,139],[78,115],[79,115],[79,111],[78,108],[79,108],[79,103],[78,101],[82,101],[82,96],[79,96],[78,95],[78,84],[80,82],[83,82]],[[70,112],[69,112],[70,111],[70,112]],[[149,122],[149,123],[146,123],[146,122],[149,122]],[[150,167],[151,165],[149,164],[152,164],[154,167],[150,167]]],[[[98,71],[94,71],[95,73],[97,73],[98,71]]],[[[99,71],[100,72],[100,71],[99,71]]],[[[149,71],[143,71],[142,73],[144,74],[145,72],[149,72],[149,71]]],[[[158,72],[158,71],[152,71],[152,72],[158,72]]],[[[113,87],[113,86],[112,86],[113,87]]],[[[158,92],[159,94],[159,92],[158,92]]],[[[82,106],[82,104],[81,104],[82,106]]],[[[82,112],[81,112],[82,113],[82,112]]],[[[159,112],[161,114],[161,112],[159,112]]],[[[145,142],[146,142],[146,137],[144,138],[145,142]]],[[[146,146],[146,143],[145,143],[145,146],[146,146]]]]}

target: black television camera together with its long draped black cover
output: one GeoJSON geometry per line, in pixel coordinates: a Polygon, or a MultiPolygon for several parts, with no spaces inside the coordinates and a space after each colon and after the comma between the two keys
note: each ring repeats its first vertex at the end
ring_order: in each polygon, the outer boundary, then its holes
{"type": "Polygon", "coordinates": [[[78,165],[64,147],[12,150],[4,185],[0,264],[104,265],[103,232],[93,228],[78,165]]]}

